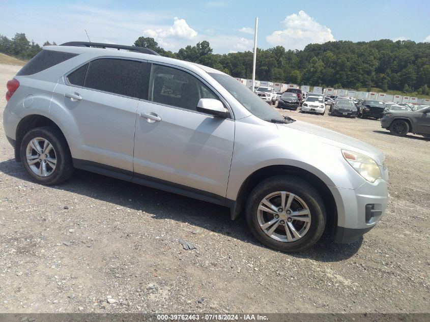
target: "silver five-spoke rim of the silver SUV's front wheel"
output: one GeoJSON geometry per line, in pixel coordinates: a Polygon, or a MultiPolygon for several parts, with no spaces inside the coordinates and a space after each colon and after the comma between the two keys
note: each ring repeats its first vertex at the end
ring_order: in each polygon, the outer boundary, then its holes
{"type": "Polygon", "coordinates": [[[257,219],[267,236],[284,243],[305,236],[311,221],[307,204],[287,191],[276,191],[264,197],[257,210],[257,219]]]}

